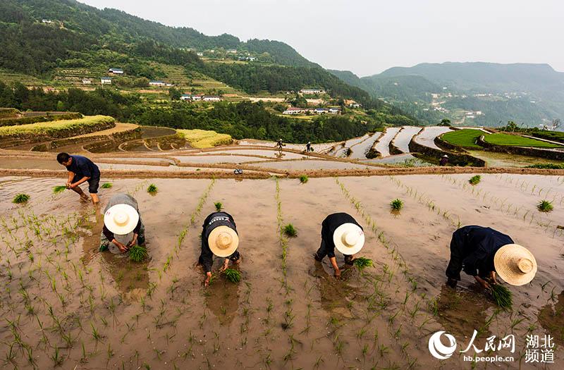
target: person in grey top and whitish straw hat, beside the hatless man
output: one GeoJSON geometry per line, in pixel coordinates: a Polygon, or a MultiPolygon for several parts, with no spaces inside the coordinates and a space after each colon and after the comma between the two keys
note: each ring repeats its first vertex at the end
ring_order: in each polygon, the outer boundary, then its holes
{"type": "Polygon", "coordinates": [[[109,249],[110,242],[122,253],[135,244],[145,244],[145,226],[141,221],[137,201],[131,195],[114,195],[104,210],[100,252],[109,249]]]}

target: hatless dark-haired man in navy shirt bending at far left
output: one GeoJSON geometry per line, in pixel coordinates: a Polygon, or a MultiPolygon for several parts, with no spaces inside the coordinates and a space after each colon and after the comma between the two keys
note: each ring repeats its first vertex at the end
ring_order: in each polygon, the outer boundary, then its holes
{"type": "Polygon", "coordinates": [[[82,192],[79,186],[87,182],[92,203],[98,204],[98,185],[100,183],[100,170],[98,166],[85,156],[71,156],[67,153],[59,153],[57,161],[65,166],[68,171],[67,189],[77,192],[81,199],[88,201],[90,199],[82,192]]]}

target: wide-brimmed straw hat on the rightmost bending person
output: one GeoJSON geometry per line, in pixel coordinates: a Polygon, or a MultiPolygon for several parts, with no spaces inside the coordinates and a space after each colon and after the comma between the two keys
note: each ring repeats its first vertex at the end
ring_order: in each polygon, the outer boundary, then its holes
{"type": "Polygon", "coordinates": [[[510,285],[525,285],[537,273],[537,260],[529,249],[517,244],[504,245],[494,256],[498,275],[510,285]]]}

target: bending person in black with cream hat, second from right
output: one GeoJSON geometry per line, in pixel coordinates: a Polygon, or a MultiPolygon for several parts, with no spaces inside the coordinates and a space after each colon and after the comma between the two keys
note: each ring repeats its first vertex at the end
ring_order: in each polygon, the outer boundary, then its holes
{"type": "Polygon", "coordinates": [[[364,231],[353,216],[345,213],[330,214],[321,223],[321,246],[314,254],[316,261],[329,257],[335,277],[341,277],[335,248],[345,255],[345,264],[352,265],[355,253],[364,246],[364,231]]]}

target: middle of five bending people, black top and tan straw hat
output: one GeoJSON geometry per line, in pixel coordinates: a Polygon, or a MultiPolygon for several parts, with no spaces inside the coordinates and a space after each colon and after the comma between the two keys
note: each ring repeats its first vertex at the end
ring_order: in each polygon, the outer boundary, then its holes
{"type": "Polygon", "coordinates": [[[204,285],[209,285],[212,279],[214,256],[225,259],[219,271],[225,271],[229,261],[240,264],[241,256],[237,251],[239,235],[233,216],[227,212],[209,214],[202,225],[202,253],[198,258],[198,266],[202,266],[206,278],[204,285]]]}

